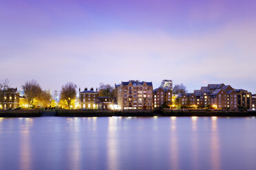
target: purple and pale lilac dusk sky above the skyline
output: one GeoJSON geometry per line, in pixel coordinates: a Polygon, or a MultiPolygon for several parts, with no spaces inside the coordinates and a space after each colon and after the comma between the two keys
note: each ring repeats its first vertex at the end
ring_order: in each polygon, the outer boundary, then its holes
{"type": "Polygon", "coordinates": [[[0,0],[0,80],[43,89],[164,79],[256,93],[255,0],[0,0]]]}

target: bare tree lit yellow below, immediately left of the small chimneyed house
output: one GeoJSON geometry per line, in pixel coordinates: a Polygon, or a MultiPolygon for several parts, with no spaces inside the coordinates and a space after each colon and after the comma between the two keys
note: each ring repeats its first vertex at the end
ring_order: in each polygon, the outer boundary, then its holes
{"type": "Polygon", "coordinates": [[[76,99],[76,84],[69,82],[61,88],[61,99],[67,101],[67,106],[70,108],[72,99],[76,99]]]}

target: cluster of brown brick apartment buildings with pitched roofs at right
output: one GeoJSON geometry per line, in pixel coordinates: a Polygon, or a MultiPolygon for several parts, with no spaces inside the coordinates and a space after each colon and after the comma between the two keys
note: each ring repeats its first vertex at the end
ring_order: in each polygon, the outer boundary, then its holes
{"type": "MultiPolygon", "coordinates": [[[[176,102],[180,106],[191,106],[188,96],[189,93],[180,94],[176,100],[184,101],[176,102]],[[186,96],[186,97],[185,97],[186,96]],[[183,103],[182,103],[183,102],[183,103]]],[[[235,89],[225,84],[209,84],[202,86],[200,90],[194,90],[195,106],[198,108],[206,108],[215,106],[215,108],[252,108],[252,95],[247,90],[235,89]]]]}

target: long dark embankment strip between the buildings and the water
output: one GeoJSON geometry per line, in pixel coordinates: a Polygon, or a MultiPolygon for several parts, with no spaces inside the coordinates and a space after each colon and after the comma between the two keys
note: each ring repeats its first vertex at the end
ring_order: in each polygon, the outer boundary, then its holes
{"type": "Polygon", "coordinates": [[[0,117],[250,117],[256,111],[247,110],[0,110],[0,117]]]}

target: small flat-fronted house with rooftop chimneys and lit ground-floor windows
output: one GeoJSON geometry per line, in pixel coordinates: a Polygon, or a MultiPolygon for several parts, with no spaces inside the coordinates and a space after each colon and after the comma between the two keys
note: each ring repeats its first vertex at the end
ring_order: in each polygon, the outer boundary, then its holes
{"type": "Polygon", "coordinates": [[[97,109],[98,108],[98,90],[94,88],[81,91],[79,88],[79,106],[83,109],[97,109]]]}

